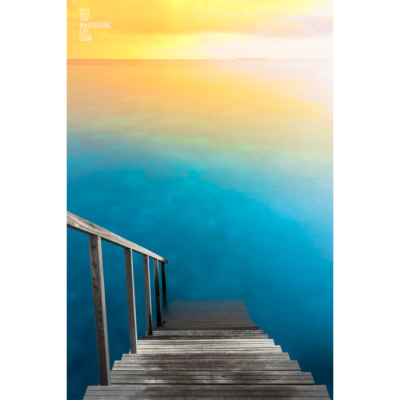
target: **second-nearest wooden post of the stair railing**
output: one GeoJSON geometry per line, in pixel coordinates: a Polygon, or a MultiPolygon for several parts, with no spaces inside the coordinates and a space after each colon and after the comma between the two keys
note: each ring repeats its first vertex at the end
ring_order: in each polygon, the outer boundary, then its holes
{"type": "Polygon", "coordinates": [[[131,347],[131,354],[137,354],[136,304],[135,304],[135,285],[133,277],[132,249],[125,248],[124,253],[125,253],[126,292],[128,295],[129,343],[131,347]]]}

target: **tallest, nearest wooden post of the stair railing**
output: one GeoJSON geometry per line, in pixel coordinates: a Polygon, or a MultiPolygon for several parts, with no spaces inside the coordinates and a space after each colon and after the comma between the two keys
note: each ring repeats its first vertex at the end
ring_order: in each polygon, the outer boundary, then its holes
{"type": "Polygon", "coordinates": [[[100,386],[110,386],[110,355],[108,352],[106,297],[104,291],[103,256],[101,254],[100,236],[89,234],[89,251],[100,386]]]}

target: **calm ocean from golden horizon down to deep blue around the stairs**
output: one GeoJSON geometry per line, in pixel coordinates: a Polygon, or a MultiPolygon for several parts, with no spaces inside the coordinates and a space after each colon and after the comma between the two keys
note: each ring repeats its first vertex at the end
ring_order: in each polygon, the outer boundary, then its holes
{"type": "MultiPolygon", "coordinates": [[[[66,209],[167,258],[169,300],[243,299],[332,399],[333,83],[331,61],[66,66],[66,209]]],[[[129,352],[123,250],[103,259],[112,365],[129,352]]],[[[67,229],[67,399],[98,382],[88,238],[67,229]]]]}

